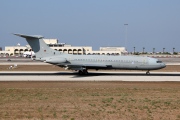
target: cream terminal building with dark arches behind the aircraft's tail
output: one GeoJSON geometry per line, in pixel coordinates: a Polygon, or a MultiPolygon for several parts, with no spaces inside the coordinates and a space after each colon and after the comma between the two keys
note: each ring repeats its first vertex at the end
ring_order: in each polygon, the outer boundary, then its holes
{"type": "MultiPolygon", "coordinates": [[[[58,43],[58,39],[43,39],[45,43],[54,50],[76,55],[121,55],[126,53],[125,47],[100,47],[100,50],[93,51],[91,46],[71,46],[65,43],[58,43]]],[[[6,46],[5,51],[0,51],[1,56],[21,56],[26,51],[32,51],[29,45],[6,46]]]]}

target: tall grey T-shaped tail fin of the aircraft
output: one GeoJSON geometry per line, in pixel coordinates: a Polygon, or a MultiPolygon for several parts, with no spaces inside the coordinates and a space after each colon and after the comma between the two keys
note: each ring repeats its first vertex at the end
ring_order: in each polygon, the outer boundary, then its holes
{"type": "Polygon", "coordinates": [[[31,46],[32,50],[36,54],[36,58],[43,58],[43,57],[49,57],[54,56],[58,54],[62,54],[59,51],[55,51],[51,49],[42,39],[43,36],[40,35],[23,35],[23,34],[14,34],[19,37],[23,37],[26,39],[26,41],[31,46]]]}

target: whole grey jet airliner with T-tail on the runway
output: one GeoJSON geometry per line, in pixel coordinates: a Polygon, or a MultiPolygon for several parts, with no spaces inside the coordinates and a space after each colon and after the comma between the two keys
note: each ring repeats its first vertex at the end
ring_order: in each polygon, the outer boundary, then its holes
{"type": "Polygon", "coordinates": [[[14,34],[26,39],[36,54],[35,60],[88,74],[88,69],[157,70],[166,65],[155,58],[140,56],[72,55],[51,49],[40,35],[14,34]]]}

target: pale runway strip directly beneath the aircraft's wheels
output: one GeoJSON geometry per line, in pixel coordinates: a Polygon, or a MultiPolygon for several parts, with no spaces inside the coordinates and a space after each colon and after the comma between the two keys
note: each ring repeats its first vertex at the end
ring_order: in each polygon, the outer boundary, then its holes
{"type": "Polygon", "coordinates": [[[78,75],[77,72],[1,72],[0,81],[180,81],[180,72],[90,72],[78,75]]]}

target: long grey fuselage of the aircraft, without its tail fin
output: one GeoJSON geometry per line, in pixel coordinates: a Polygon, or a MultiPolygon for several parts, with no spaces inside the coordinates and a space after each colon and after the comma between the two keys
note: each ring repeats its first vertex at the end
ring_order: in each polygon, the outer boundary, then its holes
{"type": "Polygon", "coordinates": [[[158,59],[139,56],[60,55],[59,61],[53,61],[53,57],[46,57],[45,59],[42,61],[50,64],[59,66],[66,65],[67,63],[74,66],[84,65],[86,69],[156,70],[166,66],[158,59]],[[51,59],[51,61],[48,61],[48,59],[51,59]]]}

